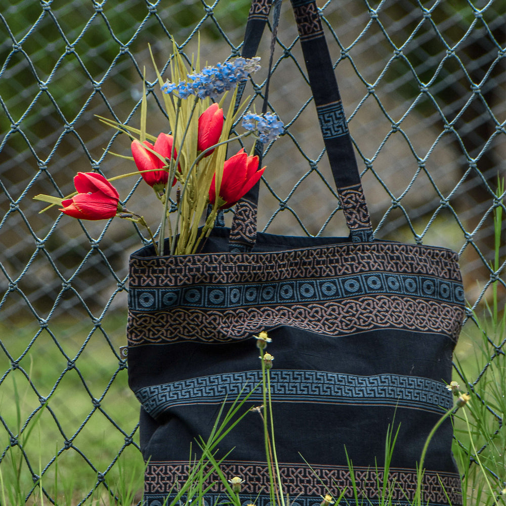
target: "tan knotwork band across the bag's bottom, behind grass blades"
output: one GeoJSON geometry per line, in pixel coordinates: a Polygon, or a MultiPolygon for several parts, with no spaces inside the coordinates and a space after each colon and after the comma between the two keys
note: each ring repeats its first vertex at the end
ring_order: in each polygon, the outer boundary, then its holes
{"type": "MultiPolygon", "coordinates": [[[[283,483],[283,492],[293,497],[293,504],[301,506],[316,506],[321,503],[320,495],[330,492],[334,497],[346,489],[345,498],[353,499],[353,485],[350,470],[345,466],[319,466],[311,465],[309,469],[304,463],[280,463],[279,471],[283,483]]],[[[250,498],[256,498],[261,494],[257,505],[267,506],[269,501],[269,472],[265,462],[233,462],[224,461],[220,466],[225,477],[238,476],[242,478],[241,500],[251,502],[250,498]]],[[[181,486],[188,476],[188,462],[150,462],[146,468],[144,481],[144,498],[159,500],[171,493],[171,487],[175,484],[181,486]]],[[[379,468],[354,467],[355,481],[357,488],[363,492],[360,497],[365,498],[369,504],[374,504],[378,499],[377,483],[383,483],[385,473],[379,468]],[[369,499],[369,500],[367,500],[369,499]]],[[[392,499],[396,504],[407,504],[412,502],[416,492],[416,471],[414,469],[393,469],[389,470],[389,483],[393,483],[392,499]]],[[[221,493],[221,500],[224,500],[224,487],[216,473],[212,473],[209,482],[216,482],[211,492],[206,494],[206,506],[215,504],[218,494],[221,493]]],[[[441,506],[451,504],[459,506],[462,504],[462,493],[460,478],[458,474],[438,473],[426,470],[423,478],[423,504],[428,506],[441,506]],[[450,502],[448,502],[448,500],[450,502]]],[[[174,490],[174,489],[173,489],[174,490]]],[[[169,501],[170,503],[170,501],[169,501]]],[[[290,504],[292,500],[290,499],[290,504]]],[[[148,502],[154,506],[154,502],[148,502]]],[[[160,501],[161,506],[161,501],[160,501]]]]}

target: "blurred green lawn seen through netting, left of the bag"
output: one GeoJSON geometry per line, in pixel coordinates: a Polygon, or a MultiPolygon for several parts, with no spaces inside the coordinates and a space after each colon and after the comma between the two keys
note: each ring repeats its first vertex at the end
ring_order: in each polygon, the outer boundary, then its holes
{"type": "MultiPolygon", "coordinates": [[[[28,502],[41,503],[33,474],[43,475],[44,489],[62,504],[76,504],[90,493],[91,501],[105,500],[107,487],[117,495],[129,483],[140,500],[144,463],[133,444],[125,446],[125,436],[137,425],[139,404],[118,357],[119,346],[126,344],[124,322],[124,314],[111,314],[98,328],[91,321],[64,318],[43,330],[36,322],[16,331],[0,326],[3,346],[18,363],[12,368],[0,351],[0,456],[7,451],[0,472],[4,492],[10,484],[21,503],[30,492],[28,502]],[[19,444],[9,448],[20,431],[19,444]],[[105,476],[97,487],[98,473],[105,476]]],[[[133,441],[138,443],[137,433],[133,441]]]]}

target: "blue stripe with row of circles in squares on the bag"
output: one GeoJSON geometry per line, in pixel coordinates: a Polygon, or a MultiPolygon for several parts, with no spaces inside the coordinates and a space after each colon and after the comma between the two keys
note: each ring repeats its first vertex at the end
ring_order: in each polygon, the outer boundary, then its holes
{"type": "Polygon", "coordinates": [[[219,309],[339,301],[375,293],[421,297],[458,305],[464,301],[459,282],[429,276],[375,273],[275,283],[201,284],[181,288],[132,287],[129,305],[131,310],[143,312],[175,307],[219,309]]]}

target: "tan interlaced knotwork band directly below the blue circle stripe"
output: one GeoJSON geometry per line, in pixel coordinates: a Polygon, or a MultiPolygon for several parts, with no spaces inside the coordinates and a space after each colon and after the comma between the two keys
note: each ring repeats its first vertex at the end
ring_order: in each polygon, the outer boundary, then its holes
{"type": "Polygon", "coordinates": [[[341,336],[377,329],[403,329],[448,335],[456,342],[463,306],[423,299],[375,296],[343,302],[257,306],[221,310],[176,308],[155,313],[129,312],[129,346],[196,341],[228,343],[279,325],[341,336]]]}

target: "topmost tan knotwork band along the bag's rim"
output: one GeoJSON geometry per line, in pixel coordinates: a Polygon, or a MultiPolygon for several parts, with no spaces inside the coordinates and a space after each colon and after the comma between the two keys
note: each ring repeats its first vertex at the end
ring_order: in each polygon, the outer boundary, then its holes
{"type": "Polygon", "coordinates": [[[130,260],[130,287],[262,283],[385,272],[461,282],[457,254],[432,246],[373,241],[269,253],[216,253],[130,260]]]}

